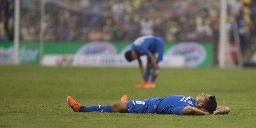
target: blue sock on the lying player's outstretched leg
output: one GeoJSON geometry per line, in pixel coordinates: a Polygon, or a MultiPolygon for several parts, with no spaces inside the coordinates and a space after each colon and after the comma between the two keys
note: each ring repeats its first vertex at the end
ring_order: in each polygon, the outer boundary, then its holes
{"type": "Polygon", "coordinates": [[[81,106],[79,112],[112,112],[110,105],[81,106]]]}

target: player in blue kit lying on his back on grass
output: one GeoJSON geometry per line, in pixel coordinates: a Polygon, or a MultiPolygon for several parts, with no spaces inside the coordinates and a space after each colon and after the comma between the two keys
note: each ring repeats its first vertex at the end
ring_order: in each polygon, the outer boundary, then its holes
{"type": "Polygon", "coordinates": [[[210,115],[228,114],[229,107],[217,107],[215,96],[201,94],[196,99],[191,96],[171,95],[165,98],[148,98],[145,100],[128,101],[124,95],[121,102],[111,105],[83,106],[67,97],[69,107],[75,112],[125,112],[125,113],[157,113],[178,115],[210,115]]]}

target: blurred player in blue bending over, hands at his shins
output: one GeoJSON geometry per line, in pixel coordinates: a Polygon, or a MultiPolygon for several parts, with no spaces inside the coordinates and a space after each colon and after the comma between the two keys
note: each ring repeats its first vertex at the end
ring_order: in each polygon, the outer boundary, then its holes
{"type": "Polygon", "coordinates": [[[158,63],[162,61],[164,41],[160,37],[144,36],[133,42],[132,49],[125,53],[128,62],[137,59],[143,81],[135,87],[155,88],[155,79],[159,73],[158,63]],[[140,56],[147,56],[147,67],[143,72],[140,56]],[[151,75],[152,74],[152,75],[151,75]],[[148,82],[151,75],[151,81],[148,82]]]}

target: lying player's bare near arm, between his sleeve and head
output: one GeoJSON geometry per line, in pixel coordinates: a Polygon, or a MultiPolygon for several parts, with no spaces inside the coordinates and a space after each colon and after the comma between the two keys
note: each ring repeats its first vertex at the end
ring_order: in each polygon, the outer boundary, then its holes
{"type": "Polygon", "coordinates": [[[196,107],[185,107],[182,112],[184,115],[210,115],[209,112],[203,112],[196,107]]]}

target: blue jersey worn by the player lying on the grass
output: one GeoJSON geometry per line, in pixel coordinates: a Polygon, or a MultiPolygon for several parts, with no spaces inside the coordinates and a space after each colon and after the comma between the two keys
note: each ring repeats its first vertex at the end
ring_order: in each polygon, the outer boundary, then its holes
{"type": "Polygon", "coordinates": [[[183,108],[187,106],[195,107],[196,100],[192,96],[173,95],[156,101],[157,114],[179,114],[183,115],[183,108]]]}

